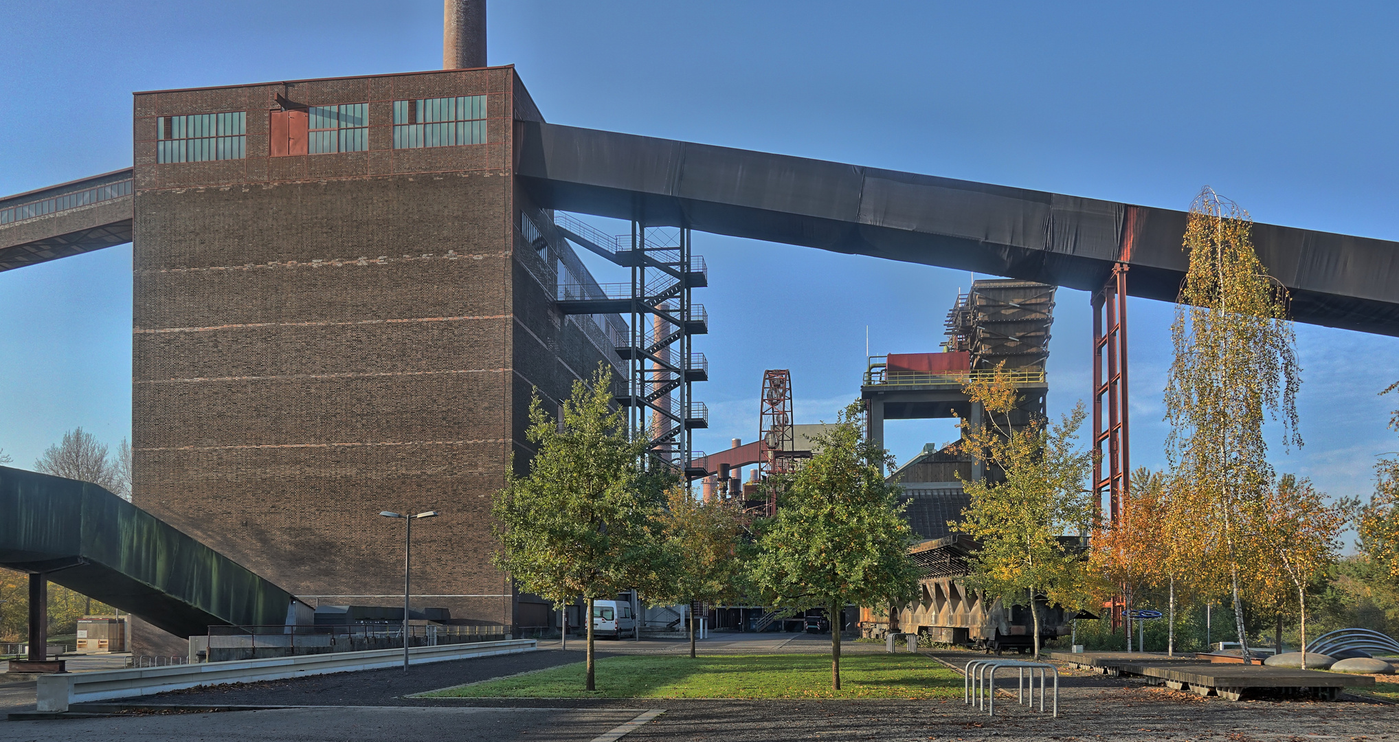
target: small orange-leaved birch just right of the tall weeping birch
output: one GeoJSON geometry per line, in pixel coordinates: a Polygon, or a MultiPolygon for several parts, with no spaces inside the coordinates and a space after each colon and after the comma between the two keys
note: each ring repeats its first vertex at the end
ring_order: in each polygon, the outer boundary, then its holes
{"type": "Polygon", "coordinates": [[[1325,496],[1309,480],[1284,475],[1256,512],[1258,546],[1252,552],[1265,556],[1258,564],[1263,588],[1286,580],[1297,591],[1302,669],[1307,669],[1307,589],[1336,563],[1340,554],[1337,536],[1346,526],[1346,512],[1357,505],[1358,501],[1346,498],[1328,505],[1325,496]]]}

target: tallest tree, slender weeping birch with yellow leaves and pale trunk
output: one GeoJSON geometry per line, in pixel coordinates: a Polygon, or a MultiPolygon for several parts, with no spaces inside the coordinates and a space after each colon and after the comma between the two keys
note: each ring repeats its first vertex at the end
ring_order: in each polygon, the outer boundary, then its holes
{"type": "Polygon", "coordinates": [[[1177,489],[1179,512],[1198,529],[1200,559],[1228,568],[1245,658],[1240,566],[1249,559],[1247,514],[1273,480],[1265,414],[1281,421],[1286,445],[1302,445],[1287,293],[1258,260],[1251,228],[1247,211],[1209,188],[1191,204],[1189,269],[1171,325],[1175,357],[1165,389],[1167,458],[1185,482],[1177,489]]]}

